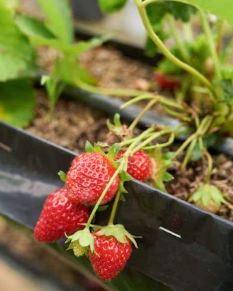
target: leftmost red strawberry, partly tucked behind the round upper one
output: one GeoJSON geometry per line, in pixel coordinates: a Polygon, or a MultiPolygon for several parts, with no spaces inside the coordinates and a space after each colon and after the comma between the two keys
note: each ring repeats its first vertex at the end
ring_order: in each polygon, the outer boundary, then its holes
{"type": "Polygon", "coordinates": [[[36,223],[34,236],[40,242],[55,242],[76,230],[83,229],[79,223],[86,223],[89,207],[69,200],[65,188],[52,192],[42,209],[36,223]]]}

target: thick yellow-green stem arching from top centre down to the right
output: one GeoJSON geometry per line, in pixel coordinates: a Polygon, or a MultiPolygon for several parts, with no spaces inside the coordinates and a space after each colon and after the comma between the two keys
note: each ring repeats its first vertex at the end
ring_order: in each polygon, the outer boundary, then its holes
{"type": "MultiPolygon", "coordinates": [[[[206,77],[204,77],[200,72],[198,72],[196,69],[194,69],[190,65],[187,65],[186,63],[182,62],[177,57],[175,57],[169,51],[169,49],[163,44],[163,42],[160,40],[160,38],[156,35],[156,33],[154,32],[154,30],[152,29],[152,27],[150,25],[150,20],[149,20],[149,18],[147,16],[147,13],[146,13],[146,10],[145,10],[145,1],[141,2],[140,0],[134,0],[134,2],[136,3],[136,5],[138,7],[138,11],[140,13],[141,19],[143,21],[143,24],[145,26],[145,29],[146,29],[148,35],[154,41],[154,43],[157,45],[157,47],[159,47],[161,52],[170,61],[172,61],[175,65],[177,65],[178,67],[182,68],[183,70],[189,72],[190,74],[192,74],[193,76],[198,78],[203,84],[205,84],[215,94],[214,87],[211,85],[209,80],[206,77]]],[[[154,2],[154,1],[152,1],[152,2],[154,2]]],[[[150,3],[152,3],[152,2],[150,2],[150,3]]]]}

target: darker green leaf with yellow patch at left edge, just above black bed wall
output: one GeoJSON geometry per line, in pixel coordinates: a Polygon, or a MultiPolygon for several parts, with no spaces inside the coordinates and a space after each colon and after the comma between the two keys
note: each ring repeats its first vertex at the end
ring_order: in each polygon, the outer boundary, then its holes
{"type": "Polygon", "coordinates": [[[0,82],[0,119],[18,127],[33,119],[35,107],[31,81],[19,79],[0,82]]]}

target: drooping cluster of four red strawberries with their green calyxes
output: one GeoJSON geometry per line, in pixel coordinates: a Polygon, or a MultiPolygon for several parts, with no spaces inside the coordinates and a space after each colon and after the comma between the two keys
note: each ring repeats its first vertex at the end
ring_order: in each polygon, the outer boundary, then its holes
{"type": "Polygon", "coordinates": [[[138,180],[152,177],[153,163],[144,150],[138,150],[128,156],[129,175],[119,166],[121,162],[115,162],[125,158],[122,158],[125,150],[118,152],[119,144],[113,145],[108,155],[99,148],[96,152],[97,145],[95,149],[90,144],[87,146],[90,152],[75,157],[67,175],[59,172],[65,188],[48,196],[34,235],[40,242],[54,242],[66,235],[70,242],[68,249],[73,249],[76,256],[88,255],[97,276],[109,281],[124,268],[131,255],[131,242],[136,247],[137,244],[134,236],[120,224],[110,223],[91,233],[93,211],[89,213],[89,205],[98,207],[107,203],[116,192],[119,200],[120,193],[125,190],[123,183],[131,176],[138,180]]]}

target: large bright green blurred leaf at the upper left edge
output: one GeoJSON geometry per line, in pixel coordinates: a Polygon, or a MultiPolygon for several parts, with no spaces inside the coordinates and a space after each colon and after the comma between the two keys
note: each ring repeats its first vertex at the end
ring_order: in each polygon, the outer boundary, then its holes
{"type": "Polygon", "coordinates": [[[35,75],[35,51],[0,1],[0,81],[35,75]]]}

